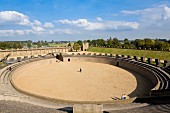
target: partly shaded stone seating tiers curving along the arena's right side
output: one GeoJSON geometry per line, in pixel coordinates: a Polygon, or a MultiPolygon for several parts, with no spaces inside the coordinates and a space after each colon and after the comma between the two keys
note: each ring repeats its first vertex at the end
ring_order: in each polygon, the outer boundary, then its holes
{"type": "MultiPolygon", "coordinates": [[[[112,62],[112,65],[119,65],[119,67],[125,68],[125,69],[129,69],[128,67],[131,66],[135,66],[135,68],[137,69],[138,72],[140,72],[141,70],[143,70],[141,72],[145,73],[144,71],[148,70],[150,71],[152,74],[154,74],[155,78],[157,79],[157,84],[155,85],[155,87],[153,87],[151,89],[150,92],[150,96],[170,96],[170,75],[164,71],[163,69],[161,69],[160,67],[148,64],[146,62],[141,62],[141,61],[136,61],[135,59],[129,58],[129,57],[124,57],[123,56],[113,56],[112,54],[102,54],[102,53],[72,53],[70,55],[65,55],[67,57],[71,57],[71,56],[90,56],[90,57],[107,57],[109,58],[113,58],[114,62],[112,62]],[[118,64],[117,64],[118,62],[118,64]],[[126,64],[125,64],[126,63],[126,64]],[[128,65],[127,65],[128,64],[128,65]],[[164,91],[166,90],[166,91],[164,91]],[[161,93],[161,92],[166,92],[166,93],[161,93]]],[[[169,68],[169,67],[168,67],[169,68]]],[[[134,70],[134,69],[133,69],[134,70]]],[[[153,79],[153,77],[151,77],[150,75],[147,75],[147,73],[145,73],[144,75],[145,77],[148,77],[149,79],[153,79]]]]}

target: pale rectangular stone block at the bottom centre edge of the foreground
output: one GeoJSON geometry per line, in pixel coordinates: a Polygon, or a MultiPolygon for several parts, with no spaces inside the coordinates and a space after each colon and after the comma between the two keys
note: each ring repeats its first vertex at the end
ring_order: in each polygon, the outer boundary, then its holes
{"type": "Polygon", "coordinates": [[[103,113],[103,105],[74,104],[73,113],[103,113]]]}

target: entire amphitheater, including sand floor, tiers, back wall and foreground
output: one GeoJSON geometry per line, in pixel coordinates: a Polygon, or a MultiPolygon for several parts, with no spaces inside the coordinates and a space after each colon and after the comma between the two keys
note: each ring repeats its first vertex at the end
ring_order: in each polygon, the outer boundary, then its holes
{"type": "Polygon", "coordinates": [[[143,57],[68,50],[1,51],[1,58],[11,53],[8,61],[17,62],[0,70],[0,112],[170,112],[166,61],[160,68],[143,57]],[[62,53],[64,61],[51,53],[62,53]]]}

